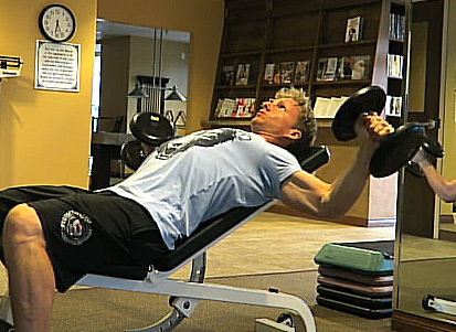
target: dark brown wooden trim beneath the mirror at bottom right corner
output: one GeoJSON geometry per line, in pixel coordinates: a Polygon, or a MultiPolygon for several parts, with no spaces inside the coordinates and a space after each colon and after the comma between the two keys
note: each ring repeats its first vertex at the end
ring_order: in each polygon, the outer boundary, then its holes
{"type": "Polygon", "coordinates": [[[456,325],[394,310],[391,330],[399,332],[455,332],[456,325]]]}

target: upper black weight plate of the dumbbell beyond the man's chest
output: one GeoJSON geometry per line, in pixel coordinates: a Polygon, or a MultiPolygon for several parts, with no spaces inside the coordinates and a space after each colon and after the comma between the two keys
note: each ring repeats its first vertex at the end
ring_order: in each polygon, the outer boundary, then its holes
{"type": "Polygon", "coordinates": [[[159,146],[171,139],[174,135],[174,128],[170,121],[162,115],[155,113],[137,113],[130,121],[132,135],[140,141],[159,146]]]}

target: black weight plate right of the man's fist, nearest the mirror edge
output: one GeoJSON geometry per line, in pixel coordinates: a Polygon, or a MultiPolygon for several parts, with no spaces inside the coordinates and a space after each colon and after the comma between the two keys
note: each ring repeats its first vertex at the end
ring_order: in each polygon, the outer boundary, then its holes
{"type": "Polygon", "coordinates": [[[385,137],[371,158],[369,169],[375,178],[393,174],[415,156],[423,142],[423,126],[406,124],[385,137]]]}

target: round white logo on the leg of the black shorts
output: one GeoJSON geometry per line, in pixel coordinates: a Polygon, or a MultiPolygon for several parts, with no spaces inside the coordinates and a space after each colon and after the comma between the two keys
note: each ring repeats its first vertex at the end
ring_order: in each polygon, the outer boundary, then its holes
{"type": "Polygon", "coordinates": [[[73,246],[81,246],[92,236],[92,221],[85,214],[70,210],[62,216],[60,227],[62,239],[73,246]]]}

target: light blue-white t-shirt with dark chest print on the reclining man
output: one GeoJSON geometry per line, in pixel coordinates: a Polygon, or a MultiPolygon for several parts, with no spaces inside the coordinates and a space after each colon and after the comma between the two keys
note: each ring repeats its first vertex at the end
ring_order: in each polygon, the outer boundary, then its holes
{"type": "Polygon", "coordinates": [[[285,149],[240,129],[170,140],[125,181],[109,188],[149,211],[169,249],[201,222],[235,206],[280,200],[280,184],[301,170],[285,149]]]}

